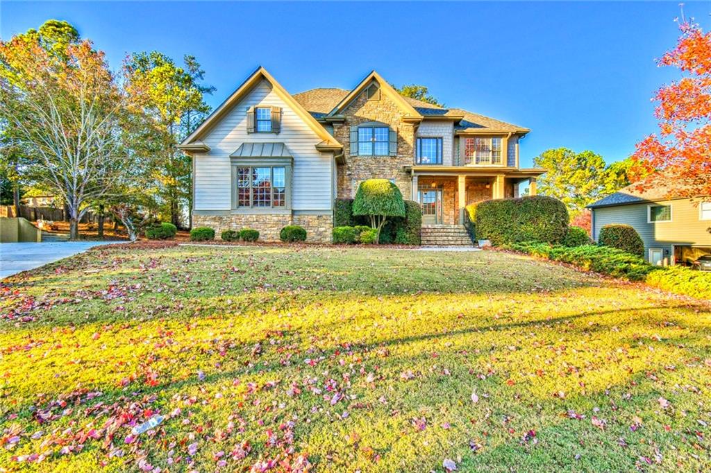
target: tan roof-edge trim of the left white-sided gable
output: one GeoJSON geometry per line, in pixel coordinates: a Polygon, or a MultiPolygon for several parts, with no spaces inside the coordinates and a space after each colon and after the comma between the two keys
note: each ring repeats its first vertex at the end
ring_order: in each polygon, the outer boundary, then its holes
{"type": "Polygon", "coordinates": [[[333,138],[331,134],[326,131],[324,126],[322,126],[316,119],[314,119],[314,116],[311,116],[309,112],[304,109],[304,107],[299,104],[296,100],[294,100],[294,97],[292,97],[289,92],[282,87],[282,85],[277,82],[274,77],[272,77],[269,72],[267,72],[264,67],[260,66],[257,67],[257,70],[255,72],[252,72],[250,77],[247,77],[247,80],[245,82],[242,82],[240,87],[237,87],[235,92],[232,92],[230,94],[230,97],[228,97],[225,102],[220,104],[220,107],[215,109],[213,113],[208,116],[203,123],[198,126],[198,128],[193,131],[193,133],[190,134],[187,138],[183,140],[183,143],[181,143],[180,148],[186,148],[186,151],[189,150],[189,146],[191,143],[195,140],[198,140],[200,138],[203,138],[205,136],[205,133],[207,133],[220,119],[227,113],[229,112],[232,107],[234,107],[237,103],[240,102],[241,99],[243,99],[251,90],[254,88],[261,80],[267,80],[272,87],[274,88],[274,92],[277,92],[277,95],[279,95],[279,98],[282,99],[284,102],[291,107],[296,114],[301,116],[301,119],[303,119],[306,124],[309,125],[309,127],[314,130],[314,133],[319,136],[322,140],[324,140],[322,145],[325,146],[341,146],[341,143],[338,143],[336,138],[333,138]]]}

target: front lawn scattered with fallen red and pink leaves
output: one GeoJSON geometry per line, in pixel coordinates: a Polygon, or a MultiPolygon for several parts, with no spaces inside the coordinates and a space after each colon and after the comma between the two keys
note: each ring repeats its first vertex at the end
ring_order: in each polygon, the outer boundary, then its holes
{"type": "Polygon", "coordinates": [[[710,308],[524,256],[100,248],[0,290],[0,471],[711,466],[710,308]]]}

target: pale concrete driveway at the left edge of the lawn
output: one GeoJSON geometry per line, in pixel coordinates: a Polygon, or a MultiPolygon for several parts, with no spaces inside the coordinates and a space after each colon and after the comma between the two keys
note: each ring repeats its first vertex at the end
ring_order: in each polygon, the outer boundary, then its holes
{"type": "Polygon", "coordinates": [[[92,246],[117,241],[53,241],[48,243],[0,243],[0,279],[72,256],[92,246]]]}

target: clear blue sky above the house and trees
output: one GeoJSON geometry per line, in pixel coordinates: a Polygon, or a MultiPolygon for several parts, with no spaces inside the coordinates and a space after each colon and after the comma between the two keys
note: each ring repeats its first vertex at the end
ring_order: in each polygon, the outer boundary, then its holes
{"type": "MultiPolygon", "coordinates": [[[[711,2],[685,7],[707,29],[711,2]]],[[[119,67],[127,53],[196,55],[215,107],[264,65],[289,90],[349,89],[370,70],[427,85],[445,104],[526,126],[522,165],[547,148],[608,162],[656,131],[656,66],[678,36],[678,2],[0,2],[0,36],[73,23],[119,67]]]]}

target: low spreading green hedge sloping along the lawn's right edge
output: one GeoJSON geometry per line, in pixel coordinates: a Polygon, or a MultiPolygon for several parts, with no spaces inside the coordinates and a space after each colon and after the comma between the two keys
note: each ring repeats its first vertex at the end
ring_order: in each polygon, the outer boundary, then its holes
{"type": "Polygon", "coordinates": [[[562,245],[526,242],[508,245],[506,248],[539,258],[570,263],[584,271],[594,271],[630,281],[644,281],[648,273],[656,269],[638,256],[609,246],[583,245],[569,248],[562,245]]]}

